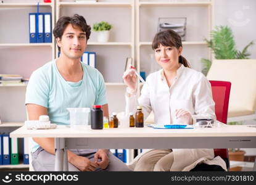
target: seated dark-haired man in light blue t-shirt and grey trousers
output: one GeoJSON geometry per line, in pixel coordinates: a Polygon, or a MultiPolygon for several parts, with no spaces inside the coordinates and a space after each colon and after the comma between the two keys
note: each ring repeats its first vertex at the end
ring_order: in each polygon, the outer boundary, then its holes
{"type": "MultiPolygon", "coordinates": [[[[102,105],[104,116],[109,116],[105,84],[101,73],[80,62],[91,34],[84,17],[60,17],[54,28],[60,57],[30,76],[26,101],[28,117],[38,120],[49,115],[52,123],[68,125],[67,107],[102,105]]],[[[54,138],[32,138],[32,165],[36,171],[53,171],[55,160],[54,138]]],[[[70,171],[130,171],[109,150],[68,150],[70,171]]]]}

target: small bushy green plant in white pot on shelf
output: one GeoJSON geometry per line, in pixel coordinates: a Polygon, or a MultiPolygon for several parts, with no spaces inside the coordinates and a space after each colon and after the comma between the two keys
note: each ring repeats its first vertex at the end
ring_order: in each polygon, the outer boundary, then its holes
{"type": "Polygon", "coordinates": [[[97,40],[100,43],[109,41],[109,30],[112,28],[108,22],[94,23],[93,30],[97,31],[97,40]]]}

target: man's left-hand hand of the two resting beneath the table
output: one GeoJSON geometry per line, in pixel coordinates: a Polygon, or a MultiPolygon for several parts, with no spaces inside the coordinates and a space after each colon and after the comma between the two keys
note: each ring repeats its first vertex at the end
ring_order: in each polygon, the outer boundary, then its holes
{"type": "Polygon", "coordinates": [[[99,168],[97,163],[91,162],[89,158],[79,155],[73,155],[70,163],[72,163],[80,171],[95,171],[96,168],[99,168]]]}

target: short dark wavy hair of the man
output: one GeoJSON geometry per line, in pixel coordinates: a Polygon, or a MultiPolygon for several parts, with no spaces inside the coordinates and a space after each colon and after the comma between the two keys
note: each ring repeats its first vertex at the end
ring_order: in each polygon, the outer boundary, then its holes
{"type": "MultiPolygon", "coordinates": [[[[62,38],[62,35],[64,33],[65,28],[68,24],[72,24],[73,26],[77,26],[81,28],[82,31],[85,31],[86,33],[86,40],[88,41],[90,35],[91,35],[91,27],[87,25],[86,20],[83,16],[75,14],[73,17],[60,17],[60,19],[57,21],[56,26],[53,30],[53,35],[55,38],[62,38]]],[[[60,51],[60,47],[58,46],[58,49],[60,51]]]]}

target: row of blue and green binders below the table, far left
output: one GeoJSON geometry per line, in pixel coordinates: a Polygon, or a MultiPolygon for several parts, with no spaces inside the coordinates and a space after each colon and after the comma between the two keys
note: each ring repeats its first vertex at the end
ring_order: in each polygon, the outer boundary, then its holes
{"type": "MultiPolygon", "coordinates": [[[[19,164],[18,138],[10,138],[9,133],[0,133],[0,165],[19,164]]],[[[24,138],[23,163],[28,164],[28,138],[24,138]]]]}

